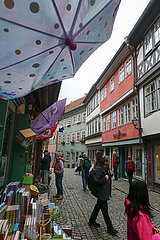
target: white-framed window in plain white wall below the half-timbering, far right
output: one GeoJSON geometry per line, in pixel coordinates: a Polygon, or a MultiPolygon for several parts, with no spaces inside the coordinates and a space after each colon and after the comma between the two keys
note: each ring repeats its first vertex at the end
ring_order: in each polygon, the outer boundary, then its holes
{"type": "Polygon", "coordinates": [[[156,82],[153,81],[145,87],[145,114],[153,112],[156,109],[156,82]]]}

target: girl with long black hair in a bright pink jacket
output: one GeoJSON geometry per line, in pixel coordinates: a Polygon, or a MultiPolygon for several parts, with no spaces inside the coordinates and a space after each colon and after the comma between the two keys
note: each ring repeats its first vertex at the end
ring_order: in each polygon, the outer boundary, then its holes
{"type": "Polygon", "coordinates": [[[135,181],[130,184],[125,207],[128,240],[160,239],[159,230],[154,228],[151,223],[149,191],[145,182],[135,181]]]}

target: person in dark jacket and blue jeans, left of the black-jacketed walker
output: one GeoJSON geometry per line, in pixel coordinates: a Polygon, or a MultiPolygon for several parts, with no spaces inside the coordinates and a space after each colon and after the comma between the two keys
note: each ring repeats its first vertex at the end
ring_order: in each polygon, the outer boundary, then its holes
{"type": "Polygon", "coordinates": [[[91,160],[83,153],[80,156],[80,169],[82,170],[82,184],[83,184],[83,191],[85,192],[87,189],[87,182],[88,182],[88,174],[89,169],[91,168],[91,160]]]}

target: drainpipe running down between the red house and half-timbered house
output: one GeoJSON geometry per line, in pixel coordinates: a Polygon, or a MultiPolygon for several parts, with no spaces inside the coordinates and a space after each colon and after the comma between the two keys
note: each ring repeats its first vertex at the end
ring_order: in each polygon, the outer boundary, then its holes
{"type": "Polygon", "coordinates": [[[131,50],[131,45],[129,44],[129,39],[128,39],[128,36],[126,36],[124,38],[124,42],[126,43],[127,47],[128,47],[128,50],[132,56],[132,60],[133,60],[133,92],[136,92],[137,93],[137,102],[138,102],[138,136],[139,136],[139,143],[141,144],[142,143],[142,139],[141,139],[141,134],[142,134],[142,128],[141,128],[141,125],[140,125],[140,105],[139,105],[139,89],[138,87],[136,86],[135,82],[136,82],[136,79],[137,79],[137,67],[136,67],[136,64],[135,64],[135,61],[136,61],[136,49],[134,48],[135,50],[135,56],[133,55],[133,52],[131,50]],[[135,72],[134,72],[135,70],[135,72]],[[135,75],[136,75],[136,78],[135,78],[135,75]]]}

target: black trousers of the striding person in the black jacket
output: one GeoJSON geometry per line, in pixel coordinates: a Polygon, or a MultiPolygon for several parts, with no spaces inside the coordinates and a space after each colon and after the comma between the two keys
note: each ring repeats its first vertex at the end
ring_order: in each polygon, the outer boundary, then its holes
{"type": "Polygon", "coordinates": [[[93,209],[93,212],[91,214],[91,217],[90,217],[89,221],[90,222],[95,222],[96,221],[99,210],[102,211],[102,214],[103,214],[105,223],[107,225],[107,228],[108,229],[112,228],[112,222],[111,222],[111,219],[108,215],[108,203],[107,203],[107,201],[101,201],[99,199],[97,200],[97,203],[96,203],[96,205],[93,209]]]}

